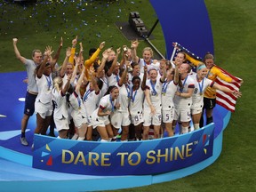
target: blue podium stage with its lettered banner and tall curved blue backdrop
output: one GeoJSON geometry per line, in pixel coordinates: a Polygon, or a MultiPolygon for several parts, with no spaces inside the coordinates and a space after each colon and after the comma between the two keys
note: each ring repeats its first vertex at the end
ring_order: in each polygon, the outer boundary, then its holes
{"type": "MultiPolygon", "coordinates": [[[[163,28],[166,59],[172,42],[203,57],[213,53],[212,28],[203,0],[150,0],[163,28]],[[173,28],[175,26],[175,28],[173,28]],[[177,28],[179,26],[179,28],[177,28]]],[[[154,22],[154,21],[152,21],[154,22]]],[[[212,164],[222,148],[231,113],[214,108],[215,124],[159,140],[100,143],[35,136],[36,117],[28,123],[28,147],[20,144],[25,72],[2,73],[0,90],[1,191],[93,191],[134,188],[176,180],[212,164]]]]}

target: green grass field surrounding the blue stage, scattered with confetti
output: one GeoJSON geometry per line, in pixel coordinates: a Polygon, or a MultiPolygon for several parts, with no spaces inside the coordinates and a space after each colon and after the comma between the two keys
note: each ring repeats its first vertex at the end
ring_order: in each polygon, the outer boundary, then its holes
{"type": "MultiPolygon", "coordinates": [[[[26,8],[7,1],[0,3],[1,72],[24,70],[14,57],[12,37],[19,37],[18,47],[27,58],[34,48],[44,50],[47,44],[57,49],[60,36],[64,38],[64,47],[67,47],[77,35],[86,53],[102,41],[106,41],[107,47],[113,45],[114,48],[130,44],[116,28],[115,22],[127,21],[131,11],[140,12],[148,27],[156,20],[153,8],[146,0],[65,2],[68,3],[49,1],[45,4],[38,1],[36,6],[28,5],[26,8]]],[[[253,0],[204,2],[212,22],[216,64],[244,79],[241,87],[243,96],[237,101],[236,112],[224,132],[222,153],[214,164],[186,178],[120,191],[256,191],[256,134],[253,130],[253,117],[256,116],[253,93],[256,91],[253,75],[256,69],[256,4],[253,0]]],[[[164,38],[159,25],[153,35],[152,43],[164,53],[164,38]]],[[[146,45],[141,42],[140,48],[146,45]]],[[[60,62],[62,58],[63,54],[60,62]]]]}

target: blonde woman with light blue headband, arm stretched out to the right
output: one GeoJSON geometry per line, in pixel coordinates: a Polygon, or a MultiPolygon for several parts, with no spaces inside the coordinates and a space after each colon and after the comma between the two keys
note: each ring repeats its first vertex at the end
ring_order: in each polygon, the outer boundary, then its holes
{"type": "Polygon", "coordinates": [[[195,81],[195,89],[192,95],[191,107],[194,130],[199,129],[199,122],[202,116],[202,109],[204,106],[204,92],[207,87],[210,86],[222,92],[232,93],[235,97],[241,96],[241,92],[237,92],[236,90],[230,90],[227,87],[221,86],[220,84],[214,83],[212,80],[206,78],[207,73],[208,69],[206,68],[204,63],[199,63],[196,68],[196,74],[191,76],[195,81]]]}

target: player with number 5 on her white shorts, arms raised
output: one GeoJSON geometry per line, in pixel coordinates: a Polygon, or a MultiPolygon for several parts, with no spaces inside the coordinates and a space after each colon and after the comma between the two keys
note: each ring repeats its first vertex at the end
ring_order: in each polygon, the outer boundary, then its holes
{"type": "MultiPolygon", "coordinates": [[[[176,63],[177,62],[178,61],[176,61],[176,63]]],[[[163,69],[162,71],[164,72],[163,69]]],[[[163,123],[165,125],[165,130],[168,133],[169,137],[172,137],[174,132],[174,130],[172,130],[172,121],[174,116],[173,98],[177,90],[178,83],[179,83],[178,67],[174,69],[172,68],[172,65],[170,65],[167,70],[167,76],[162,88],[162,116],[163,116],[163,123]]]]}

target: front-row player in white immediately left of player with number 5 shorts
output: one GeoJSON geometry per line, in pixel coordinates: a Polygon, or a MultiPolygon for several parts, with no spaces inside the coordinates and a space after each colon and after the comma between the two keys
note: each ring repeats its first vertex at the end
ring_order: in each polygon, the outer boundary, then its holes
{"type": "Polygon", "coordinates": [[[157,80],[156,68],[151,68],[148,71],[148,76],[143,109],[143,140],[148,140],[149,126],[151,124],[154,125],[154,139],[158,139],[162,122],[161,92],[165,76],[161,76],[157,80]]]}

